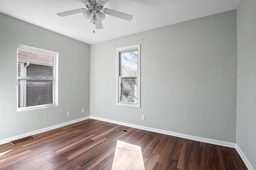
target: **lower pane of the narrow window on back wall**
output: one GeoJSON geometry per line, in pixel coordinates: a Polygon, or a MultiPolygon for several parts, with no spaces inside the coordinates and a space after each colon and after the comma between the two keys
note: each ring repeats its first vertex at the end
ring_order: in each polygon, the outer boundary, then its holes
{"type": "Polygon", "coordinates": [[[120,101],[137,103],[137,78],[121,79],[120,101]]]}

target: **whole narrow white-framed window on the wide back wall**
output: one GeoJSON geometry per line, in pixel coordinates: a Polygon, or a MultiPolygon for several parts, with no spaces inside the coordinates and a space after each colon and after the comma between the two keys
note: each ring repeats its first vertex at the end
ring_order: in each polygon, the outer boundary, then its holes
{"type": "Polygon", "coordinates": [[[116,49],[116,103],[140,107],[140,44],[116,49]]]}

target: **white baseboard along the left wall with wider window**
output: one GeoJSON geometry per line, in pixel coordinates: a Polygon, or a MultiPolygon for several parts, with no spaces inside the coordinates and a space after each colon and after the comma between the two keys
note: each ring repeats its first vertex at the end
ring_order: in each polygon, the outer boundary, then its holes
{"type": "Polygon", "coordinates": [[[12,141],[12,140],[16,140],[16,139],[19,139],[19,138],[24,138],[24,137],[26,137],[26,136],[30,136],[30,135],[33,135],[33,134],[38,134],[38,133],[46,132],[46,131],[48,131],[48,130],[52,130],[52,129],[55,129],[55,128],[64,127],[64,126],[66,126],[66,125],[70,125],[70,124],[72,124],[72,123],[77,123],[77,122],[80,122],[80,121],[84,121],[84,120],[86,120],[86,119],[90,119],[90,116],[88,116],[88,117],[83,117],[83,118],[76,119],[76,120],[69,121],[69,122],[65,122],[65,123],[61,123],[61,124],[54,125],[54,126],[51,126],[51,127],[42,128],[42,129],[35,130],[35,131],[32,131],[32,132],[20,134],[20,135],[13,136],[13,137],[10,137],[10,138],[2,139],[2,140],[0,140],[0,144],[5,144],[5,143],[8,143],[8,142],[10,142],[10,141],[12,141]]]}

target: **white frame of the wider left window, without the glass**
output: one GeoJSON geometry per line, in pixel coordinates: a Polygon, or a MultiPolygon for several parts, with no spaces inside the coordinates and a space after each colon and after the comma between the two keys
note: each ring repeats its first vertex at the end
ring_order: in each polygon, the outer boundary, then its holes
{"type": "MultiPolygon", "coordinates": [[[[17,64],[18,64],[18,49],[25,49],[25,50],[29,50],[29,51],[35,51],[35,52],[40,52],[40,53],[46,53],[46,54],[51,54],[53,55],[53,64],[52,64],[52,78],[32,78],[32,77],[18,77],[18,67],[17,67],[17,111],[24,111],[24,110],[30,110],[30,109],[37,109],[37,108],[43,108],[43,107],[52,107],[52,106],[58,106],[58,53],[54,52],[54,51],[48,51],[45,49],[39,49],[39,48],[35,48],[35,47],[29,47],[26,45],[17,45],[17,64]],[[18,81],[20,80],[20,82],[24,81],[26,84],[26,80],[52,80],[53,81],[53,85],[52,85],[52,102],[51,104],[46,104],[46,105],[37,105],[37,106],[29,106],[29,107],[18,107],[18,81]]],[[[28,62],[29,63],[29,62],[28,62]]],[[[26,69],[26,68],[25,68],[26,69]]],[[[26,73],[26,70],[24,70],[24,72],[26,73]]],[[[22,73],[22,72],[21,72],[22,73]]],[[[20,84],[20,91],[26,91],[26,87],[24,87],[24,84],[21,83],[20,84]],[[22,89],[22,86],[24,89],[22,89]]],[[[21,103],[26,103],[26,95],[20,94],[24,97],[23,100],[20,100],[20,104],[21,103]]]]}

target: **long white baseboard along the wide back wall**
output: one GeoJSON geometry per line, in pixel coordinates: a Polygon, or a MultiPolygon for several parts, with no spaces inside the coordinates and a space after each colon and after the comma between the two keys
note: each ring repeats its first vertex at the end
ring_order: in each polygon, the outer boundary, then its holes
{"type": "Polygon", "coordinates": [[[216,145],[220,145],[220,146],[226,146],[226,147],[230,147],[230,148],[236,148],[236,144],[232,143],[232,142],[225,142],[225,141],[221,141],[221,140],[202,138],[202,137],[198,137],[198,136],[191,136],[191,135],[188,135],[188,134],[171,132],[171,131],[161,130],[161,129],[156,129],[156,128],[143,127],[143,126],[140,126],[140,125],[133,125],[133,124],[130,124],[130,123],[113,121],[113,120],[110,120],[110,119],[104,119],[104,118],[100,118],[100,117],[90,116],[90,118],[91,119],[96,119],[98,121],[104,121],[104,122],[114,123],[114,124],[118,124],[118,125],[123,125],[123,126],[126,126],[126,127],[132,127],[132,128],[147,130],[147,131],[150,131],[150,132],[157,132],[157,133],[167,134],[167,135],[176,136],[176,137],[180,137],[180,138],[196,140],[198,142],[205,142],[205,143],[216,144],[216,145]]]}

